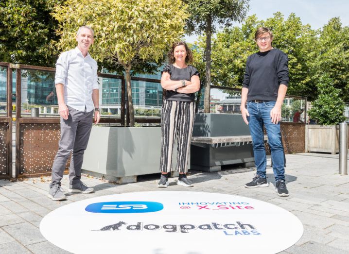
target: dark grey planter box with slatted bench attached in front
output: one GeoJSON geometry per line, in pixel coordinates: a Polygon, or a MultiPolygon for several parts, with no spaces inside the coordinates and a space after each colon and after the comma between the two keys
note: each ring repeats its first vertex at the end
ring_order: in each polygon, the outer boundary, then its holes
{"type": "MultiPolygon", "coordinates": [[[[197,114],[193,136],[243,136],[250,135],[240,114],[197,114]]],[[[223,165],[244,163],[254,166],[252,142],[191,145],[191,169],[219,171],[223,165]]]]}

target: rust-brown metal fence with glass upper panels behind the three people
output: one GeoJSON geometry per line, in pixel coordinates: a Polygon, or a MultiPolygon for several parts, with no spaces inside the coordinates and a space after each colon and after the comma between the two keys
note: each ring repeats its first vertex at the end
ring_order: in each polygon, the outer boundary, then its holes
{"type": "MultiPolygon", "coordinates": [[[[0,63],[0,68],[6,71],[6,105],[0,107],[0,142],[2,150],[0,151],[0,179],[22,176],[38,176],[51,174],[52,162],[58,150],[58,141],[60,138],[60,118],[57,112],[57,102],[54,90],[54,68],[12,65],[9,63],[0,63]],[[13,73],[16,73],[13,77],[13,73]],[[16,80],[16,94],[13,94],[12,83],[16,80]],[[13,101],[16,98],[16,103],[13,101]],[[40,107],[40,117],[31,117],[30,111],[33,107],[40,107]],[[16,175],[12,175],[12,121],[13,111],[16,120],[16,175]]],[[[118,90],[118,102],[120,112],[118,114],[104,114],[100,124],[128,126],[128,102],[126,96],[126,82],[123,76],[98,73],[100,79],[117,80],[120,91],[118,90]]],[[[149,82],[159,84],[160,80],[152,78],[132,77],[132,82],[149,82]]],[[[100,86],[103,89],[103,86],[100,86]]],[[[112,86],[110,85],[110,88],[112,86]]],[[[102,94],[103,100],[103,90],[102,94]]],[[[116,88],[112,91],[117,90],[116,88]]],[[[110,91],[108,91],[110,92],[110,91]]],[[[239,114],[241,103],[241,89],[211,86],[211,113],[229,113],[239,114]],[[240,98],[240,101],[239,101],[240,98]]],[[[149,101],[154,95],[157,100],[162,100],[163,94],[158,94],[155,89],[149,90],[149,101]],[[156,94],[157,93],[157,94],[156,94]]],[[[117,96],[110,96],[117,98],[117,96]]],[[[109,98],[109,99],[110,99],[109,98]]],[[[137,99],[137,98],[136,98],[137,99]]],[[[146,100],[147,98],[144,98],[146,100]]],[[[281,122],[282,140],[285,152],[304,152],[305,123],[292,122],[292,114],[297,110],[293,104],[304,108],[302,118],[306,119],[306,98],[287,96],[285,103],[288,116],[283,116],[281,122]],[[295,103],[297,101],[297,103],[295,103]],[[301,101],[300,103],[298,101],[301,101]]],[[[161,102],[162,103],[162,102],[161,102]]],[[[159,103],[158,103],[159,104],[159,103]]],[[[158,110],[159,105],[157,105],[158,110]]],[[[203,100],[198,104],[199,110],[203,108],[203,100]]],[[[153,107],[148,106],[144,116],[136,115],[137,124],[160,124],[158,111],[154,113],[153,107]],[[150,115],[151,114],[151,115],[150,115]]],[[[141,113],[142,109],[139,110],[141,113]]],[[[143,112],[144,113],[144,112],[143,112]]],[[[92,120],[92,119],[91,119],[92,120]]],[[[68,170],[69,162],[67,163],[68,170]]]]}

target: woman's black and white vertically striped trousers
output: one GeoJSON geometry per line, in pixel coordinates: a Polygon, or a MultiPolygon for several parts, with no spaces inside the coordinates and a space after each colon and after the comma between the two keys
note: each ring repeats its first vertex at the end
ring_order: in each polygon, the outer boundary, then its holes
{"type": "Polygon", "coordinates": [[[163,101],[161,111],[160,171],[171,171],[175,137],[177,138],[176,170],[180,173],[188,171],[187,165],[194,116],[194,102],[163,101]]]}

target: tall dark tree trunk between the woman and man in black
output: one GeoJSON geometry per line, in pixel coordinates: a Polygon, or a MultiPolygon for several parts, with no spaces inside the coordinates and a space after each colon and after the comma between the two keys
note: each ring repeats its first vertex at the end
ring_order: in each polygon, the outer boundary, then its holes
{"type": "Polygon", "coordinates": [[[204,109],[205,113],[209,113],[209,96],[211,86],[211,17],[206,20],[206,85],[205,85],[205,97],[204,97],[204,109]]]}

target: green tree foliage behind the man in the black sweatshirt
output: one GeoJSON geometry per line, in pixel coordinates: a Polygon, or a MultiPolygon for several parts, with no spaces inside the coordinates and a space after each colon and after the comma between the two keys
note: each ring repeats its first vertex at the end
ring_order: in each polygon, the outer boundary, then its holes
{"type": "MultiPolygon", "coordinates": [[[[258,51],[254,34],[258,27],[269,27],[274,34],[273,47],[287,53],[290,83],[287,93],[317,98],[317,84],[328,73],[340,95],[349,101],[349,27],[332,18],[322,29],[313,30],[291,14],[281,13],[259,20],[247,17],[242,27],[232,27],[216,34],[212,40],[212,84],[241,87],[248,55],[258,51]]],[[[198,44],[202,45],[205,38],[198,44]]],[[[204,47],[200,46],[203,51],[204,47]]]]}

